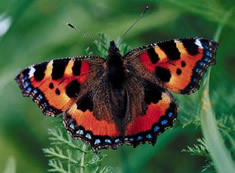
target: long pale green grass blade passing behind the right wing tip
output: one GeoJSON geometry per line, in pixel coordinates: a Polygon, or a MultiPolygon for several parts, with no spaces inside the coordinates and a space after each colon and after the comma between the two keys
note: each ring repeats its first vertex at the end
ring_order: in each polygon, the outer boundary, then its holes
{"type": "MultiPolygon", "coordinates": [[[[231,11],[227,12],[224,16],[223,22],[218,26],[214,36],[216,41],[219,40],[222,29],[230,15],[231,11]]],[[[210,69],[208,71],[208,78],[203,85],[203,93],[201,97],[202,106],[200,111],[200,120],[202,133],[205,138],[205,143],[207,145],[210,156],[215,163],[215,169],[220,173],[234,172],[234,163],[219,133],[218,127],[216,125],[217,123],[214,111],[211,107],[211,101],[209,97],[209,77],[210,69]]]]}

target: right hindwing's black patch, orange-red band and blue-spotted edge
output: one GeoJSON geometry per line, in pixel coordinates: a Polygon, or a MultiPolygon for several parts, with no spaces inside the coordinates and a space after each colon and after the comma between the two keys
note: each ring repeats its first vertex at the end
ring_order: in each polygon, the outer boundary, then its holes
{"type": "Polygon", "coordinates": [[[151,82],[145,84],[146,111],[133,119],[126,128],[125,143],[134,147],[140,143],[155,144],[157,136],[172,127],[178,106],[172,95],[151,82]]]}

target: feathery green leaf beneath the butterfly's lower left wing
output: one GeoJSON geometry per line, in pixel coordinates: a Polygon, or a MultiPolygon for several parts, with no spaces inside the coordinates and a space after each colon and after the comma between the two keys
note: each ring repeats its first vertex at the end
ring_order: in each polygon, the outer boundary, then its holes
{"type": "Polygon", "coordinates": [[[61,127],[49,129],[51,147],[44,148],[43,152],[49,157],[49,172],[84,173],[111,171],[111,167],[101,166],[101,161],[106,156],[100,152],[93,153],[91,148],[82,141],[73,140],[65,134],[61,127]]]}

